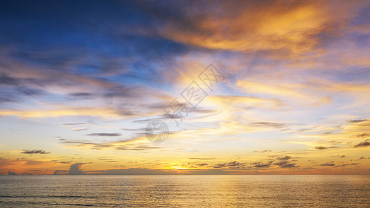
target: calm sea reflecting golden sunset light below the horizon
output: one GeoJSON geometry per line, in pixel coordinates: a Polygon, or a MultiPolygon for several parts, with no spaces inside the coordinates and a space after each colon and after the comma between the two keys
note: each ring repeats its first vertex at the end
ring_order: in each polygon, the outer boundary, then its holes
{"type": "Polygon", "coordinates": [[[0,207],[370,207],[359,175],[1,175],[0,207]]]}

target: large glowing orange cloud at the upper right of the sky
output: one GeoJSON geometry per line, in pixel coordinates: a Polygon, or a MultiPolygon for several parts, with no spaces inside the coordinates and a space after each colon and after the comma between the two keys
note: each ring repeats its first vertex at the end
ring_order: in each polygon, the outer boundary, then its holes
{"type": "Polygon", "coordinates": [[[151,8],[150,14],[154,19],[166,14],[166,21],[158,19],[161,30],[157,32],[177,42],[209,49],[300,54],[314,49],[320,33],[337,29],[357,15],[355,8],[360,7],[360,3],[346,1],[338,4],[341,6],[323,1],[214,1],[209,6],[193,2],[186,10],[160,4],[151,8]],[[338,17],[338,13],[343,15],[338,17]]]}

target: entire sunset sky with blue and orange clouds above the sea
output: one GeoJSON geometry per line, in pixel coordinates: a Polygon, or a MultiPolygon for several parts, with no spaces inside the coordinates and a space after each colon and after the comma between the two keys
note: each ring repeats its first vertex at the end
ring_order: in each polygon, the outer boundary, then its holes
{"type": "Polygon", "coordinates": [[[0,174],[369,175],[369,57],[370,1],[1,1],[0,174]]]}

